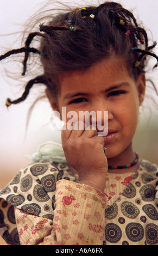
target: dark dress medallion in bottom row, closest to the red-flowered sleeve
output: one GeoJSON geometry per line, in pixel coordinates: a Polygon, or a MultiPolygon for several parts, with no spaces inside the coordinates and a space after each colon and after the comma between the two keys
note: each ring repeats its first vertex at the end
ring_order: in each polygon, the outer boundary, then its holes
{"type": "Polygon", "coordinates": [[[113,223],[107,224],[105,228],[105,237],[108,242],[117,243],[122,237],[121,228],[113,223]]]}

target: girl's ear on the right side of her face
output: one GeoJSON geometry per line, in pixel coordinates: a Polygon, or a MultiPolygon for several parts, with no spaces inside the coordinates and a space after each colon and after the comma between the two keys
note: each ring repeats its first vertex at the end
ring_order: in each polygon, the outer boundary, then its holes
{"type": "Polygon", "coordinates": [[[141,106],[144,100],[145,92],[146,92],[146,75],[143,72],[138,75],[137,89],[138,89],[138,98],[141,106]]]}

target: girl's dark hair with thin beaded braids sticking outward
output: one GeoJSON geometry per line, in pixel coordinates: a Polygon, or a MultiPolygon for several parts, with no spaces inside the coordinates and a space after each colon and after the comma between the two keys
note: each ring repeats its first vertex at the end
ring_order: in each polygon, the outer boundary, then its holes
{"type": "MultiPolygon", "coordinates": [[[[135,79],[145,72],[146,56],[156,45],[148,46],[146,31],[139,27],[134,15],[121,4],[105,2],[98,7],[85,7],[58,14],[48,24],[40,25],[40,32],[28,35],[23,48],[9,51],[0,60],[18,52],[25,52],[23,73],[26,74],[30,52],[40,54],[44,73],[29,81],[22,97],[8,99],[7,106],[26,99],[34,83],[44,83],[52,96],[58,93],[61,72],[89,68],[104,58],[124,58],[130,75],[135,79]],[[39,49],[30,48],[35,36],[40,36],[39,49]]],[[[157,66],[157,64],[155,65],[157,66]]]]}

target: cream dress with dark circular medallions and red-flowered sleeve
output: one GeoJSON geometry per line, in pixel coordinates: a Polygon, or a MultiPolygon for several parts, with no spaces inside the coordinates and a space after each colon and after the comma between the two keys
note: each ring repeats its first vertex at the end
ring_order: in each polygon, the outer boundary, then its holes
{"type": "Polygon", "coordinates": [[[158,168],[106,176],[104,193],[77,182],[66,163],[37,162],[1,190],[8,245],[158,245],[158,168]]]}

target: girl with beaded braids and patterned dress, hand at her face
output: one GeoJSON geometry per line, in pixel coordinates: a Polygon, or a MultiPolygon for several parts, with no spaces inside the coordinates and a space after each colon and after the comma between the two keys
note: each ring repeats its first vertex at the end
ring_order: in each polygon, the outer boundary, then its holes
{"type": "MultiPolygon", "coordinates": [[[[46,85],[52,108],[77,119],[62,129],[62,148],[42,145],[34,161],[1,190],[0,232],[9,245],[157,245],[157,166],[132,149],[146,88],[146,58],[153,56],[146,31],[121,4],[67,10],[28,35],[23,75],[30,53],[39,54],[43,74],[26,85],[46,85]],[[39,48],[31,42],[40,38],[39,48]],[[80,129],[79,114],[108,111],[108,134],[80,129]],[[105,152],[107,149],[107,153],[105,152]],[[56,152],[55,151],[55,152],[56,152]],[[106,153],[106,154],[105,154],[106,153]],[[57,159],[57,160],[56,160],[57,159]]],[[[157,64],[155,65],[155,67],[157,64]]],[[[155,68],[154,67],[154,68],[155,68]]],[[[66,123],[70,121],[67,116],[66,123]]]]}

